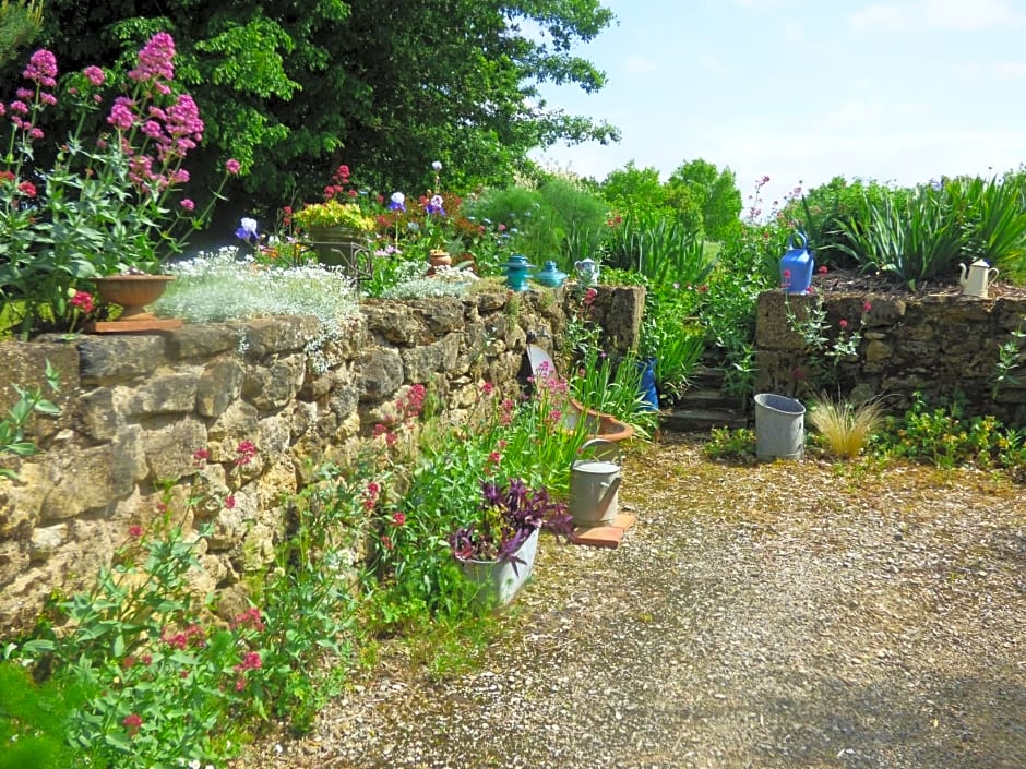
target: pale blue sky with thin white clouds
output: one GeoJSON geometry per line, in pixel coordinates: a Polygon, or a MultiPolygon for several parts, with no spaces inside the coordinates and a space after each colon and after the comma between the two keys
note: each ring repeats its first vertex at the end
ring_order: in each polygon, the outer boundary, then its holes
{"type": "Polygon", "coordinates": [[[622,139],[533,157],[604,179],[633,160],[665,181],[702,158],[764,208],[835,176],[916,184],[1026,163],[1026,0],[605,0],[612,26],[574,52],[596,94],[549,107],[622,139]]]}

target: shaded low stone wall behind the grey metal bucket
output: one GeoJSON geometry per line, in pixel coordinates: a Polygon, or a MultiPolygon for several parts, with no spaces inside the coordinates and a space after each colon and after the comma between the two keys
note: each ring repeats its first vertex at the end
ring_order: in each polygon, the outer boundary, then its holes
{"type": "Polygon", "coordinates": [[[855,357],[836,369],[818,365],[789,322],[787,307],[807,316],[814,296],[786,297],[766,291],[759,298],[756,390],[808,398],[815,390],[837,397],[885,397],[888,410],[903,412],[919,392],[930,404],[964,396],[967,416],[993,414],[1006,425],[1026,425],[1026,299],[978,299],[961,295],[878,296],[828,293],[822,297],[833,345],[840,333],[859,332],[855,357]],[[864,307],[869,310],[864,310],[864,307]],[[1017,382],[995,383],[999,350],[1018,345],[1017,382]],[[997,389],[995,389],[997,385],[997,389]]]}

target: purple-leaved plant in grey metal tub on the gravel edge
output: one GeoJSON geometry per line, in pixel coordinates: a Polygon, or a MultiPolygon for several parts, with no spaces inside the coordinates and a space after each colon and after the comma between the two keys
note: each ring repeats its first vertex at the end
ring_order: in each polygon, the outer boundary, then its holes
{"type": "Polygon", "coordinates": [[[530,576],[542,528],[569,538],[566,505],[518,478],[481,483],[477,515],[449,540],[464,575],[478,585],[478,600],[503,605],[516,597],[530,576]]]}

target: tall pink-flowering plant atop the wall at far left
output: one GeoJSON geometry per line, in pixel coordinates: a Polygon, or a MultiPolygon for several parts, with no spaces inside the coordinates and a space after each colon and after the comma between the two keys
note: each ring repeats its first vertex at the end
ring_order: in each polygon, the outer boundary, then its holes
{"type": "MultiPolygon", "coordinates": [[[[22,336],[67,331],[82,311],[76,290],[106,275],[153,272],[220,199],[218,189],[198,212],[184,191],[184,160],[204,125],[193,98],[176,89],[174,58],[174,39],[157,33],[108,100],[109,72],[86,67],[58,88],[57,59],[40,49],[15,98],[0,103],[0,298],[16,310],[0,319],[7,327],[22,336]],[[65,137],[44,128],[59,103],[77,118],[65,137]],[[98,134],[86,136],[96,123],[98,134]]],[[[240,170],[227,161],[226,175],[240,170]]]]}

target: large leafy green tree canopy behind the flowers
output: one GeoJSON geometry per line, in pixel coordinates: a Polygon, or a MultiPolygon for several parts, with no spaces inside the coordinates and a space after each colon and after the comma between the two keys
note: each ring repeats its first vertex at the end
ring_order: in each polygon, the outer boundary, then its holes
{"type": "Polygon", "coordinates": [[[611,21],[599,0],[48,0],[40,43],[64,72],[126,68],[169,32],[206,122],[193,179],[216,187],[236,157],[259,208],[319,197],[342,163],[358,184],[419,194],[434,160],[470,189],[510,181],[533,147],[616,141],[537,87],[601,88],[573,48],[611,21]]]}

